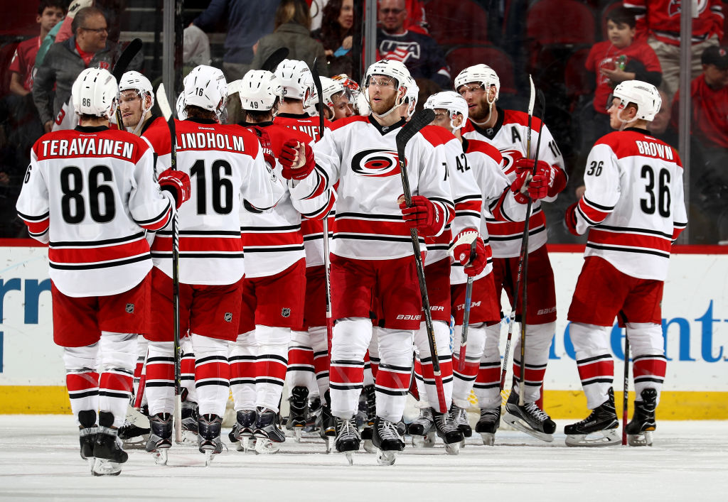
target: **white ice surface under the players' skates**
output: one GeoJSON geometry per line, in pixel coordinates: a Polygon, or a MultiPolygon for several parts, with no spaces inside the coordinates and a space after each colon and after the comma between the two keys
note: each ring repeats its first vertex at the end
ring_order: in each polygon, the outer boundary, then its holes
{"type": "MultiPolygon", "coordinates": [[[[658,422],[654,447],[569,448],[500,431],[496,445],[471,438],[458,456],[443,445],[408,445],[394,466],[359,453],[324,453],[323,442],[288,438],[280,453],[223,451],[210,467],[192,445],[170,466],[129,451],[119,477],[92,477],[70,415],[0,415],[0,498],[22,500],[255,501],[725,501],[728,421],[658,422]]],[[[223,439],[227,440],[224,431],[223,439]]],[[[229,445],[228,445],[229,446],[229,445]]]]}

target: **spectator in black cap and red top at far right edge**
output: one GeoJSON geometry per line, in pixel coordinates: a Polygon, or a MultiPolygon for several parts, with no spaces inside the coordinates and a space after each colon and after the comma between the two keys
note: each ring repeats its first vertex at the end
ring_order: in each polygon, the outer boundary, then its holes
{"type": "MultiPolygon", "coordinates": [[[[728,51],[708,47],[700,57],[703,74],[692,81],[690,148],[691,239],[714,244],[728,239],[728,51]],[[707,217],[707,218],[706,218],[707,217]],[[703,220],[705,225],[695,225],[703,220]]],[[[680,93],[671,123],[678,129],[680,93]]]]}

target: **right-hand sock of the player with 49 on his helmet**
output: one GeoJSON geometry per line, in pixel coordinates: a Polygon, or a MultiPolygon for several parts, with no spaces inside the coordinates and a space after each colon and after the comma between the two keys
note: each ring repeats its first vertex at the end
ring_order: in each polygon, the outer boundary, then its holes
{"type": "Polygon", "coordinates": [[[256,324],[256,342],[256,405],[277,412],[288,368],[290,328],[256,324]]]}

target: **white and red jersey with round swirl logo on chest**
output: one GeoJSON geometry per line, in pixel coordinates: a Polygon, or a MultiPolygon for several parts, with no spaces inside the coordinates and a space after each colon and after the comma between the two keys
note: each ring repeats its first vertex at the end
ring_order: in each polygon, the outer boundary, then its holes
{"type": "MultiPolygon", "coordinates": [[[[395,137],[403,124],[404,120],[382,127],[371,117],[352,116],[334,122],[331,132],[314,144],[317,176],[309,176],[297,188],[310,192],[317,189],[316,182],[326,188],[339,182],[334,254],[361,260],[412,254],[410,231],[397,203],[403,188],[395,137]]],[[[454,203],[438,144],[418,132],[407,143],[405,156],[412,194],[427,197],[443,210],[440,234],[454,217],[454,203]]],[[[424,250],[424,239],[420,242],[424,250]]]]}

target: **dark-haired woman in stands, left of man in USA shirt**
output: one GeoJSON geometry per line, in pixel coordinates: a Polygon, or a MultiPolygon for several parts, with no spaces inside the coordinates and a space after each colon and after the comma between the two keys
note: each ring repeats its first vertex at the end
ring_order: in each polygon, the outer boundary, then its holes
{"type": "Polygon", "coordinates": [[[330,75],[352,74],[353,25],[354,0],[329,0],[323,8],[321,28],[311,33],[323,45],[330,75]]]}

